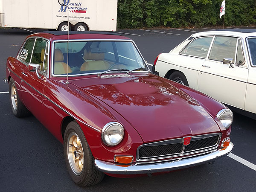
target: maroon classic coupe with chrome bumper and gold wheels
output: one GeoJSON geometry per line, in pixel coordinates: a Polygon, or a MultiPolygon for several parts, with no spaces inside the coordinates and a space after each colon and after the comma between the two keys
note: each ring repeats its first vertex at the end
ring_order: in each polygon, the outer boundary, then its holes
{"type": "Polygon", "coordinates": [[[152,175],[211,163],[233,149],[233,113],[151,74],[121,35],[29,35],[8,58],[6,79],[14,115],[30,111],[64,144],[70,176],[81,186],[104,173],[152,175]]]}

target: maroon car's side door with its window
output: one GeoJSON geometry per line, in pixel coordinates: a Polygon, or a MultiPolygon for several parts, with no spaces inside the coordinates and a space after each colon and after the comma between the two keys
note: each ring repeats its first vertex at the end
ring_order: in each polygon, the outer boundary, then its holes
{"type": "Polygon", "coordinates": [[[21,82],[23,103],[38,120],[42,113],[42,95],[47,81],[48,44],[48,41],[43,38],[35,39],[29,64],[41,65],[41,69],[38,71],[39,76],[36,72],[29,71],[27,67],[23,72],[23,81],[21,82]]]}

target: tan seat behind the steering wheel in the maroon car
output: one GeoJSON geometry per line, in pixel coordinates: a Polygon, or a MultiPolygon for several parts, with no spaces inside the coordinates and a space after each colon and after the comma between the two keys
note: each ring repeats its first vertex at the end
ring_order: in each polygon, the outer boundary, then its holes
{"type": "Polygon", "coordinates": [[[107,70],[110,64],[107,61],[103,61],[105,55],[104,52],[92,53],[84,49],[84,60],[85,62],[81,65],[81,71],[92,71],[92,70],[107,70]]]}

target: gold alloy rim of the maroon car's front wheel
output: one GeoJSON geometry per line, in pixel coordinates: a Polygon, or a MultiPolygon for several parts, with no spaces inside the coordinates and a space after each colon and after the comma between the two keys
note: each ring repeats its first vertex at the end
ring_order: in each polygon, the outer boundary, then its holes
{"type": "Polygon", "coordinates": [[[81,175],[84,167],[84,151],[81,140],[76,133],[70,133],[67,143],[67,157],[71,169],[76,175],[81,175]]]}

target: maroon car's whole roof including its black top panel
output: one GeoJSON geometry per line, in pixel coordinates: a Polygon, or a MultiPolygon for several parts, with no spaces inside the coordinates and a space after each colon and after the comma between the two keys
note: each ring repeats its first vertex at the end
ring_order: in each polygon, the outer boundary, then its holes
{"type": "MultiPolygon", "coordinates": [[[[44,32],[38,32],[34,33],[32,35],[29,35],[30,37],[42,37],[49,39],[50,41],[54,40],[67,40],[68,39],[68,33],[67,31],[44,31],[44,32]]],[[[121,39],[121,40],[130,40],[130,38],[127,38],[125,36],[122,36],[119,33],[116,32],[100,32],[100,31],[70,31],[69,32],[69,39],[121,39]]]]}

